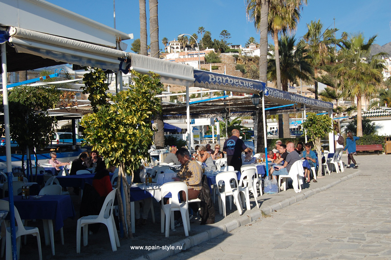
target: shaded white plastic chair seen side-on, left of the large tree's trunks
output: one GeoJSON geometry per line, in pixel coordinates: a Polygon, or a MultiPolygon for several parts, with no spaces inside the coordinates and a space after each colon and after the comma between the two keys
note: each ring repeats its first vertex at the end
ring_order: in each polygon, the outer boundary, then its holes
{"type": "Polygon", "coordinates": [[[83,245],[87,246],[88,224],[94,224],[94,223],[103,223],[107,226],[107,229],[109,230],[109,237],[110,237],[112,251],[117,251],[117,247],[120,247],[119,238],[118,238],[114,217],[113,217],[113,202],[114,202],[116,191],[117,189],[114,189],[107,195],[99,215],[81,217],[77,220],[76,253],[78,254],[80,253],[81,228],[83,227],[83,245]]]}

